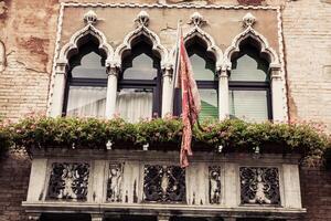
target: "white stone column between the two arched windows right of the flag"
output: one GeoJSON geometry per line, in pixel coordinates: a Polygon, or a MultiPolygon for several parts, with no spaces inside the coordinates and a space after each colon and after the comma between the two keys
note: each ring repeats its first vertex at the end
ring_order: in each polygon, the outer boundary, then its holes
{"type": "Polygon", "coordinates": [[[228,115],[228,75],[227,70],[222,69],[218,76],[218,119],[226,119],[228,115]]]}

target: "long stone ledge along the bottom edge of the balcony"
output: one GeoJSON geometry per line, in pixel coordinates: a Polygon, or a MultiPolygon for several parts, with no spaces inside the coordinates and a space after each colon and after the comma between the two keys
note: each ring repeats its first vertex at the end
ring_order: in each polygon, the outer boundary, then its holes
{"type": "Polygon", "coordinates": [[[105,213],[111,214],[143,214],[143,215],[181,215],[181,217],[270,217],[277,219],[296,219],[302,217],[306,209],[288,209],[275,207],[211,207],[182,204],[132,204],[132,203],[89,203],[89,202],[26,202],[22,206],[28,213],[105,213]]]}

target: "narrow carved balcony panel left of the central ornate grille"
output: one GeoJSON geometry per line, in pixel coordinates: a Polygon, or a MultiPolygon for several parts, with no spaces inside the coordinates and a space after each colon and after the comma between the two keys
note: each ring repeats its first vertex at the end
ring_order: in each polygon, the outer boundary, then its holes
{"type": "Polygon", "coordinates": [[[109,164],[109,175],[107,185],[107,201],[121,202],[121,180],[122,180],[122,165],[109,164]]]}

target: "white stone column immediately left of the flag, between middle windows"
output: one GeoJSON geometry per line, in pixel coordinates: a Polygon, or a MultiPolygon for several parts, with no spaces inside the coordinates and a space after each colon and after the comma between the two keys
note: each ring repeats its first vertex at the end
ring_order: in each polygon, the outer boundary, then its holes
{"type": "Polygon", "coordinates": [[[162,80],[162,117],[168,114],[172,115],[173,90],[172,90],[172,69],[166,67],[163,70],[162,80]]]}

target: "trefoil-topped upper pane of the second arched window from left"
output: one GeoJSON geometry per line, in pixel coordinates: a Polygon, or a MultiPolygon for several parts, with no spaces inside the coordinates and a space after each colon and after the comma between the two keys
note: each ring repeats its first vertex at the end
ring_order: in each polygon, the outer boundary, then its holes
{"type": "Polygon", "coordinates": [[[153,67],[153,60],[142,53],[132,61],[132,67],[125,70],[125,80],[154,80],[158,70],[153,67]]]}

